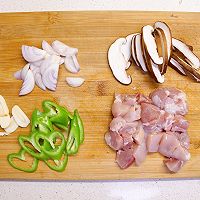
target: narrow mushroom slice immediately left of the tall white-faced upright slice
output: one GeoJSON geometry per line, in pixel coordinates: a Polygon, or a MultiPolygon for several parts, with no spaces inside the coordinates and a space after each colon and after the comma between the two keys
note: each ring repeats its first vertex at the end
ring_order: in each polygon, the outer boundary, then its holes
{"type": "Polygon", "coordinates": [[[134,41],[134,51],[135,51],[135,55],[136,55],[136,60],[139,64],[139,67],[141,67],[141,69],[144,72],[147,72],[147,67],[146,67],[146,63],[144,61],[144,55],[143,55],[143,51],[142,51],[142,47],[141,47],[141,34],[138,34],[135,36],[135,41],[134,41]]]}

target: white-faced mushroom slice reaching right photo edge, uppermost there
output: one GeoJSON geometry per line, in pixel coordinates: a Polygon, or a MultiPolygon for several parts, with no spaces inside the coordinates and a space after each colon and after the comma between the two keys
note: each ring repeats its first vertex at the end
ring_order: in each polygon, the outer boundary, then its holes
{"type": "Polygon", "coordinates": [[[172,38],[175,51],[179,51],[182,60],[186,61],[194,69],[200,68],[199,58],[191,51],[191,48],[180,40],[172,38]]]}

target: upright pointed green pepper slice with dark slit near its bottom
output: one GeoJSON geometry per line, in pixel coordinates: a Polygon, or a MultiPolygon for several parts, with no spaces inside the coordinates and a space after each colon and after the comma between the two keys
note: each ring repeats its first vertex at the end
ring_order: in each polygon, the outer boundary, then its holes
{"type": "Polygon", "coordinates": [[[78,152],[80,145],[80,130],[78,125],[77,116],[74,112],[74,117],[71,121],[71,129],[67,139],[67,154],[74,155],[78,152]]]}

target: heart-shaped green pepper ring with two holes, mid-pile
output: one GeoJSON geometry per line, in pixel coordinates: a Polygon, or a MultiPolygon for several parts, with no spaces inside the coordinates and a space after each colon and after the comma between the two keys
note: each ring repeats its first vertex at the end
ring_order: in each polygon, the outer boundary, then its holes
{"type": "Polygon", "coordinates": [[[44,134],[37,134],[35,136],[35,143],[39,146],[41,152],[52,160],[59,160],[66,149],[65,137],[58,131],[51,132],[51,134],[47,136],[44,134]],[[57,139],[61,140],[60,144],[56,144],[57,139]],[[43,141],[43,143],[40,144],[40,141],[43,141]],[[44,145],[47,143],[49,145],[44,145]]]}

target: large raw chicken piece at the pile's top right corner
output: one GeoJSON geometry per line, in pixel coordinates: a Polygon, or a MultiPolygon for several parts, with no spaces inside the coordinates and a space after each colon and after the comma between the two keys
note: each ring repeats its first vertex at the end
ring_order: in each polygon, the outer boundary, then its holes
{"type": "Polygon", "coordinates": [[[186,95],[176,88],[159,88],[149,96],[154,105],[168,113],[185,115],[188,112],[186,95]]]}

